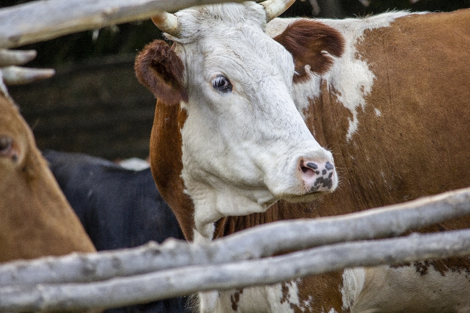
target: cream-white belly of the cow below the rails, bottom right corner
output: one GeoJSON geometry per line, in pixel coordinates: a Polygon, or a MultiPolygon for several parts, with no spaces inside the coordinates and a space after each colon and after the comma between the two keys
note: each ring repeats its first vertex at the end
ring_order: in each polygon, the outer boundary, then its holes
{"type": "Polygon", "coordinates": [[[366,268],[367,283],[351,312],[470,312],[470,278],[452,270],[417,262],[410,266],[366,268]],[[420,267],[418,267],[420,266],[420,267]]]}

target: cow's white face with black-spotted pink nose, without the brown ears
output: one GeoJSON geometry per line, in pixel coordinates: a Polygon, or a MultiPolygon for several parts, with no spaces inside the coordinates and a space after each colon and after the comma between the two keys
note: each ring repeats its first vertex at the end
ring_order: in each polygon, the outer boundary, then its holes
{"type": "Polygon", "coordinates": [[[186,70],[182,177],[196,227],[334,190],[333,158],[294,105],[294,62],[264,33],[262,6],[213,5],[176,15],[183,33],[168,37],[179,42],[175,52],[186,70]]]}

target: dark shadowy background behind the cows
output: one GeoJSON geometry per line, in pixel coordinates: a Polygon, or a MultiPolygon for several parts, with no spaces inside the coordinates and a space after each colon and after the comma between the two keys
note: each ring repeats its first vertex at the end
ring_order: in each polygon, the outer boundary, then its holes
{"type": "MultiPolygon", "coordinates": [[[[448,12],[470,7],[470,0],[412,1],[297,0],[282,17],[346,18],[390,10],[448,12]]],[[[0,0],[0,7],[24,2],[0,0]]],[[[137,51],[154,39],[162,39],[161,31],[143,21],[21,47],[38,52],[28,67],[56,69],[47,81],[9,87],[39,148],[111,160],[147,157],[155,98],[137,82],[133,64],[137,51]]]]}

